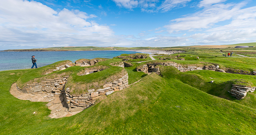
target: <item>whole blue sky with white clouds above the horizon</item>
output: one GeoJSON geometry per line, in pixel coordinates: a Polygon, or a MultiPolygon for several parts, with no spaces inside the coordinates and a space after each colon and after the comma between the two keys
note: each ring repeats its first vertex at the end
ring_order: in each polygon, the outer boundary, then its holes
{"type": "Polygon", "coordinates": [[[0,50],[256,42],[256,0],[0,0],[0,50]]]}

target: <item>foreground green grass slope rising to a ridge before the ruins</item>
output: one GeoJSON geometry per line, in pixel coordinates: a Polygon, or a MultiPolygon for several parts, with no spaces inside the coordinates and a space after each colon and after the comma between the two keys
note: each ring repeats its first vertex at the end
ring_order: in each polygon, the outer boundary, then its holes
{"type": "MultiPolygon", "coordinates": [[[[23,72],[23,71],[19,71],[23,72]]],[[[21,101],[0,83],[1,134],[254,134],[256,110],[156,74],[72,117],[49,119],[46,103],[21,101]],[[12,102],[9,102],[12,100],[12,102]],[[33,112],[40,112],[34,115],[33,112]]]]}

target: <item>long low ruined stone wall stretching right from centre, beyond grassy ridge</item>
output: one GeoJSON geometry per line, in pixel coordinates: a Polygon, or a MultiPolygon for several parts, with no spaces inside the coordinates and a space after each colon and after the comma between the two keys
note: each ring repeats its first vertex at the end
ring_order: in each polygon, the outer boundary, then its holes
{"type": "Polygon", "coordinates": [[[147,72],[156,72],[157,74],[160,74],[159,68],[154,68],[156,65],[173,66],[181,72],[193,71],[193,70],[212,70],[212,71],[218,71],[218,72],[225,72],[224,70],[218,69],[219,66],[212,65],[212,66],[209,66],[209,67],[208,66],[204,66],[204,67],[193,67],[193,66],[183,67],[182,65],[177,64],[173,61],[171,61],[169,63],[145,64],[141,68],[136,68],[136,70],[138,72],[145,72],[145,73],[147,73],[147,72]]]}

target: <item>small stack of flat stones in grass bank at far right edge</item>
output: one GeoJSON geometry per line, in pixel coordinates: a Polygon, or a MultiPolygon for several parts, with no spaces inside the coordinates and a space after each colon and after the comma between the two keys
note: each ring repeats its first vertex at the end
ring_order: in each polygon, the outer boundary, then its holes
{"type": "Polygon", "coordinates": [[[232,88],[228,92],[232,94],[233,97],[236,97],[236,99],[243,99],[248,91],[254,92],[255,88],[256,87],[232,84],[232,88]]]}

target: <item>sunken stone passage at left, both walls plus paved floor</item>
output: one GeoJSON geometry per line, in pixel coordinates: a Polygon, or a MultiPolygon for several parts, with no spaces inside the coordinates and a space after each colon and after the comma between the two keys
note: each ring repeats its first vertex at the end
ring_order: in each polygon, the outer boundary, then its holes
{"type": "MultiPolygon", "coordinates": [[[[20,89],[16,85],[16,90],[22,92],[25,95],[23,98],[17,96],[19,99],[30,101],[43,101],[49,102],[47,107],[51,109],[51,118],[61,118],[71,115],[75,115],[82,110],[95,104],[96,99],[99,99],[103,95],[112,94],[114,91],[120,91],[128,87],[128,73],[122,78],[106,82],[103,88],[98,90],[87,90],[81,95],[71,95],[70,88],[66,88],[65,84],[69,76],[57,77],[53,79],[46,79],[41,82],[33,82],[32,84],[26,84],[25,87],[20,89]],[[33,97],[36,97],[33,99],[33,97]],[[38,100],[38,98],[40,100],[38,100]]],[[[16,95],[21,95],[16,92],[16,95]]]]}

